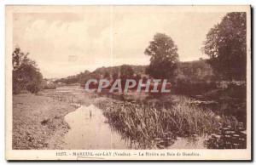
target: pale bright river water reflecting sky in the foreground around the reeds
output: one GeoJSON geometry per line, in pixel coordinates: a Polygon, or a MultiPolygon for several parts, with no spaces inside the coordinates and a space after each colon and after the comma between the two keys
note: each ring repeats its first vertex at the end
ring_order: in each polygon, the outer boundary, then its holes
{"type": "MultiPolygon", "coordinates": [[[[70,130],[65,135],[63,147],[67,150],[110,150],[132,149],[129,140],[122,139],[121,135],[108,124],[102,110],[95,105],[81,105],[76,111],[65,116],[70,130]]],[[[177,138],[173,145],[167,149],[195,149],[205,148],[204,139],[190,140],[177,138]]],[[[158,149],[156,146],[153,149],[158,149]]]]}

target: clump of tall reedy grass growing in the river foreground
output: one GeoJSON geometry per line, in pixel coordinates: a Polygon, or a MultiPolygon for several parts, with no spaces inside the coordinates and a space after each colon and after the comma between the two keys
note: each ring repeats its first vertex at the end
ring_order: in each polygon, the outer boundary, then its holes
{"type": "Polygon", "coordinates": [[[97,105],[113,128],[129,139],[144,144],[150,144],[155,138],[163,138],[165,134],[211,134],[228,122],[228,118],[218,117],[211,110],[189,102],[186,97],[178,97],[171,107],[166,108],[104,98],[97,101],[97,105]]]}

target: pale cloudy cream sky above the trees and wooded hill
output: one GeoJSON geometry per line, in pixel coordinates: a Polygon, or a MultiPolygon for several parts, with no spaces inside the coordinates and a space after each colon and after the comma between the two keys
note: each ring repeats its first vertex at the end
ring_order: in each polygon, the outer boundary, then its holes
{"type": "Polygon", "coordinates": [[[207,32],[226,13],[99,7],[79,12],[15,13],[13,44],[35,60],[46,78],[111,65],[148,65],[145,48],[157,32],[172,37],[179,60],[207,58],[207,32]]]}

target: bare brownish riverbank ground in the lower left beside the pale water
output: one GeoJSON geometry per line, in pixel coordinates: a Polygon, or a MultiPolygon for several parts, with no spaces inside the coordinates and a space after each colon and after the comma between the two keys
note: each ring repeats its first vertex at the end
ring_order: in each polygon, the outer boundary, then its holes
{"type": "Polygon", "coordinates": [[[69,129],[64,117],[75,109],[44,95],[13,95],[13,149],[61,149],[69,129]]]}

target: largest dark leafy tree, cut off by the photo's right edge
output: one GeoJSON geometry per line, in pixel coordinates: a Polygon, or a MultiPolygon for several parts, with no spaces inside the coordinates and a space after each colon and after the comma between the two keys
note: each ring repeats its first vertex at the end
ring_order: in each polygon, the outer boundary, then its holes
{"type": "Polygon", "coordinates": [[[204,53],[215,74],[225,80],[245,80],[247,71],[246,13],[226,14],[207,33],[204,53]]]}

